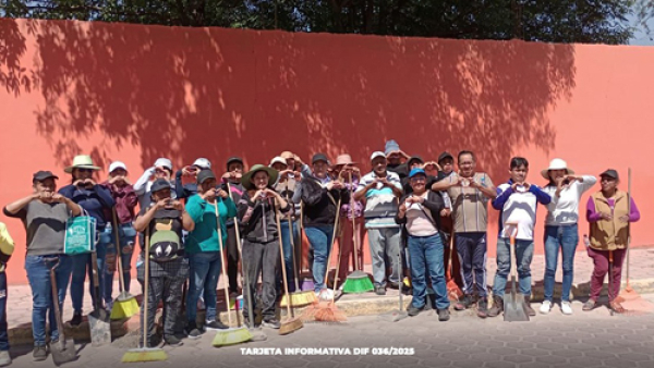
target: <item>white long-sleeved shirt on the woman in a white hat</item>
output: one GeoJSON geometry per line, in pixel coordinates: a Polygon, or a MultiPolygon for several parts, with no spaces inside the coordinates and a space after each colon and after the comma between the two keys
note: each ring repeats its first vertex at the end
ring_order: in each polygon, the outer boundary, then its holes
{"type": "Polygon", "coordinates": [[[556,186],[547,185],[543,191],[552,197],[547,205],[546,225],[569,225],[579,220],[579,201],[581,195],[597,183],[595,176],[583,175],[583,182],[574,181],[561,189],[560,196],[555,196],[556,186]]]}

